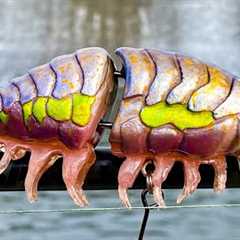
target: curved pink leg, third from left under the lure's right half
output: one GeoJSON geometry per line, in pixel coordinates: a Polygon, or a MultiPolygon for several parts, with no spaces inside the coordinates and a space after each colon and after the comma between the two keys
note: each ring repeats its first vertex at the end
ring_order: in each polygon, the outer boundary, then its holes
{"type": "Polygon", "coordinates": [[[182,162],[184,165],[184,187],[182,193],[177,198],[177,204],[193,193],[201,180],[198,170],[201,163],[199,159],[182,156],[182,162]]]}

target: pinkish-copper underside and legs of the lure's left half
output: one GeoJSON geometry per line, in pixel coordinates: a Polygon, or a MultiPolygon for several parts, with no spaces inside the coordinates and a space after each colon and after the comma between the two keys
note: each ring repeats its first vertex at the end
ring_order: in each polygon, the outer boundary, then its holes
{"type": "Polygon", "coordinates": [[[37,185],[41,176],[58,158],[63,157],[63,180],[67,191],[76,204],[88,204],[82,185],[95,161],[92,145],[87,143],[83,148],[69,149],[58,139],[40,142],[36,139],[20,140],[6,135],[0,135],[0,143],[4,148],[0,172],[8,167],[11,160],[22,158],[26,151],[31,152],[25,179],[25,190],[30,202],[37,199],[37,185]]]}

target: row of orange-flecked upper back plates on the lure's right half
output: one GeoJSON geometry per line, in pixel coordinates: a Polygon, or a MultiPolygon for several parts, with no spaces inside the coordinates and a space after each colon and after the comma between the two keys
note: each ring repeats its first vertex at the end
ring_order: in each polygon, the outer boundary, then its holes
{"type": "Polygon", "coordinates": [[[187,104],[192,111],[212,111],[217,118],[240,112],[239,79],[218,67],[155,49],[119,48],[116,54],[126,71],[124,98],[144,95],[146,105],[187,104]]]}

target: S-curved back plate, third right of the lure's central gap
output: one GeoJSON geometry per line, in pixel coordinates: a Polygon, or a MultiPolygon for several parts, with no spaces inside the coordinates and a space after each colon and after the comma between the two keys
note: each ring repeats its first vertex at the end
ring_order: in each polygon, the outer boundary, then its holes
{"type": "Polygon", "coordinates": [[[208,83],[207,67],[190,57],[177,56],[177,59],[182,81],[169,93],[167,102],[187,104],[192,93],[208,83]]]}

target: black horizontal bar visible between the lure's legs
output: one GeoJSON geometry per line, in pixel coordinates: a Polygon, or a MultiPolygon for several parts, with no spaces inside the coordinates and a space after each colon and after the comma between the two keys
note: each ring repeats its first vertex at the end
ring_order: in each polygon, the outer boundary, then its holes
{"type": "MultiPolygon", "coordinates": [[[[123,159],[111,154],[109,148],[96,149],[97,161],[88,173],[85,189],[116,189],[118,169],[123,159]]],[[[13,161],[9,168],[0,175],[0,191],[20,191],[24,190],[24,179],[28,167],[29,155],[21,160],[13,161]]],[[[227,187],[240,187],[240,174],[238,162],[233,157],[227,158],[228,181],[227,187]]],[[[211,166],[202,165],[200,167],[202,176],[200,188],[212,188],[214,171],[211,166]]],[[[134,188],[143,189],[146,181],[143,176],[139,176],[134,188]]],[[[169,174],[164,188],[179,188],[183,186],[183,170],[180,163],[176,163],[169,174]]],[[[41,190],[64,190],[62,181],[62,160],[58,160],[42,177],[39,188],[41,190]]]]}

